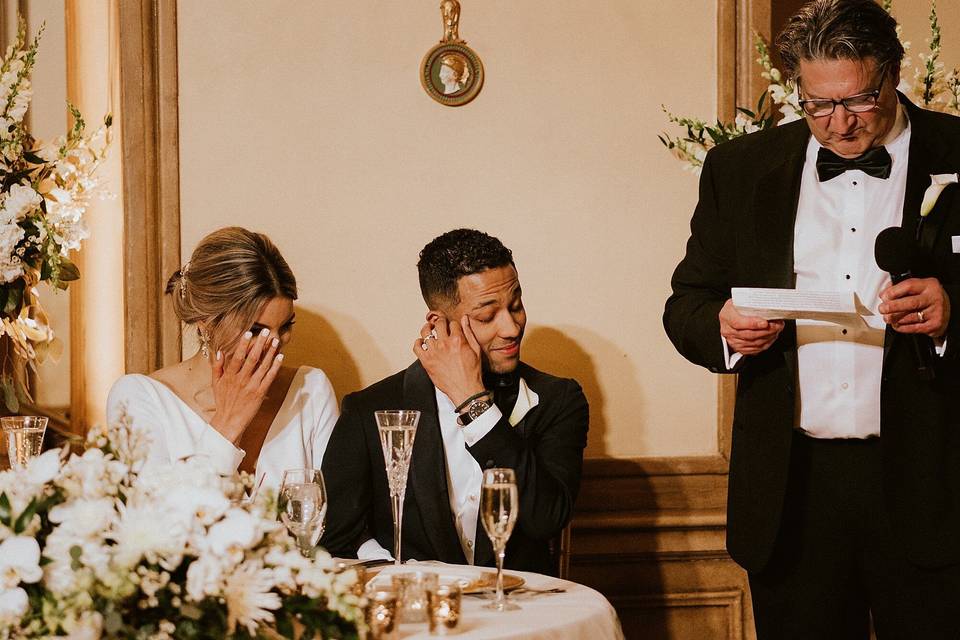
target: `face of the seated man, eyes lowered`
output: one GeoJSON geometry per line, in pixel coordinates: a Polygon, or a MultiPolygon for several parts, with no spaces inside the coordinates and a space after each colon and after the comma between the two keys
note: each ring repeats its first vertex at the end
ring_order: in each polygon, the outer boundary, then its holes
{"type": "Polygon", "coordinates": [[[463,276],[457,290],[460,302],[447,310],[447,316],[454,322],[463,315],[470,318],[484,370],[510,373],[516,369],[527,324],[517,270],[507,265],[463,276]]]}

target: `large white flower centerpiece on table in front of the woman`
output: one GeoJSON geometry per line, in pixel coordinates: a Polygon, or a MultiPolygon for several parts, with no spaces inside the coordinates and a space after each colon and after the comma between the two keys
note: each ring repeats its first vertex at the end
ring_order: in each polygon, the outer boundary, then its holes
{"type": "Polygon", "coordinates": [[[356,573],[300,555],[270,492],[142,470],[129,420],[0,473],[0,638],[356,638],[356,573]]]}

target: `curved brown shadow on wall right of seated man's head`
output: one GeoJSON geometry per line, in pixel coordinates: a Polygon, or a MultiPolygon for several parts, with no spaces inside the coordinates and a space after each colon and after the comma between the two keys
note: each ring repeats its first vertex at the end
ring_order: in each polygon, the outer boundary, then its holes
{"type": "MultiPolygon", "coordinates": [[[[632,365],[622,349],[597,333],[579,327],[533,327],[523,338],[523,360],[547,373],[574,378],[583,387],[590,403],[590,432],[584,451],[587,458],[608,455],[604,385],[594,360],[604,363],[606,388],[615,386],[617,393],[626,394],[630,398],[631,414],[640,413],[640,385],[632,365]]],[[[641,435],[638,429],[636,437],[639,439],[641,435]]]]}

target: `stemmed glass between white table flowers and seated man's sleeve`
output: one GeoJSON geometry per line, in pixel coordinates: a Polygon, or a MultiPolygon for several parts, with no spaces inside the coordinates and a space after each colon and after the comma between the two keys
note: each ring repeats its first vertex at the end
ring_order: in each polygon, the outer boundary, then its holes
{"type": "Polygon", "coordinates": [[[284,471],[277,506],[280,519],[296,539],[300,554],[313,558],[327,515],[327,490],[320,470],[284,471]]]}

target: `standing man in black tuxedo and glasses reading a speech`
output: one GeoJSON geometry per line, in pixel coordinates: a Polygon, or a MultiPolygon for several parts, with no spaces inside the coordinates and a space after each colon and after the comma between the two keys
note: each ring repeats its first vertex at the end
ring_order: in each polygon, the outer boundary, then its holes
{"type": "Polygon", "coordinates": [[[805,118],[713,149],[664,325],[738,373],[727,547],[758,636],[956,638],[960,602],[960,120],[898,94],[903,47],[872,0],[815,0],[778,39],[805,118]],[[874,241],[922,264],[892,285],[874,241]],[[856,293],[865,326],[739,313],[731,287],[856,293]],[[936,378],[912,341],[932,341],[936,378]]]}

